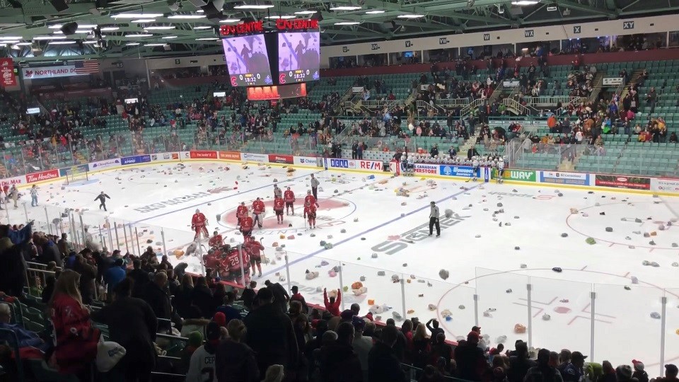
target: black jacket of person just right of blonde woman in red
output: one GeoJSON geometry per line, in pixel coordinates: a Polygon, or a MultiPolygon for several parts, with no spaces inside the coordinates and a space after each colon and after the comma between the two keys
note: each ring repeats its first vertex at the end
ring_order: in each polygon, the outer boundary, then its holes
{"type": "Polygon", "coordinates": [[[146,301],[133,297],[116,299],[99,311],[93,311],[92,320],[108,325],[110,340],[127,351],[124,359],[148,362],[151,366],[155,363],[153,342],[156,341],[158,322],[146,301]]]}

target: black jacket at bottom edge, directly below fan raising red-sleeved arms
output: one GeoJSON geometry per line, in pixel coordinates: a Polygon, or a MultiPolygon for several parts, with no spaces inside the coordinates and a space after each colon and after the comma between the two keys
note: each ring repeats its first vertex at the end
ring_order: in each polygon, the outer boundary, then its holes
{"type": "Polygon", "coordinates": [[[361,361],[351,345],[335,341],[320,348],[320,380],[327,382],[363,381],[361,361]]]}

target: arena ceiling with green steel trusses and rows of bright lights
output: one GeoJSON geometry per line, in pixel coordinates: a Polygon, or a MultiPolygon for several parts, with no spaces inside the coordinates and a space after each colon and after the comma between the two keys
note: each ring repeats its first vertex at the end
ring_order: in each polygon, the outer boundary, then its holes
{"type": "Polygon", "coordinates": [[[277,17],[318,18],[322,44],[335,45],[679,11],[679,0],[205,1],[0,0],[0,54],[28,61],[214,54],[219,25],[277,17]],[[76,34],[61,34],[59,25],[71,22],[76,34]]]}

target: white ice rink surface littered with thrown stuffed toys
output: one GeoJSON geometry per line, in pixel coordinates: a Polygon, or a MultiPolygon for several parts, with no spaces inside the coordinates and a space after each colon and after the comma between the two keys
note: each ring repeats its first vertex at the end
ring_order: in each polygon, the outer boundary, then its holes
{"type": "Polygon", "coordinates": [[[579,350],[594,361],[603,360],[599,354],[617,357],[614,364],[641,359],[649,367],[658,365],[665,340],[665,361],[679,359],[677,198],[289,170],[200,162],[110,170],[69,185],[40,185],[38,207],[30,207],[23,190],[25,208],[8,214],[27,214],[38,228],[59,232],[66,223],[54,217],[75,209],[74,224],[82,218],[96,243],[135,254],[147,245],[158,255],[165,248],[170,262],[200,272],[199,257],[175,255],[193,239],[195,209],[209,219],[210,234],[219,231],[236,244],[236,207],[262,197],[267,218],[253,236],[262,238],[270,262],[255,278],[260,284],[298,285],[320,305],[323,288],[348,287],[343,308],[359,303],[362,313],[372,308],[383,321],[438,318],[450,340],[478,323],[491,346],[522,339],[579,350]],[[313,230],[301,216],[311,173],[321,184],[313,230]],[[272,214],[274,183],[297,195],[295,215],[282,225],[272,214]],[[400,187],[410,196],[397,196],[400,187]],[[101,191],[110,196],[109,212],[94,201],[101,191]],[[427,236],[430,201],[441,210],[440,238],[427,236]],[[356,296],[352,284],[359,281],[367,291],[356,296]],[[517,333],[517,324],[529,330],[517,333]]]}

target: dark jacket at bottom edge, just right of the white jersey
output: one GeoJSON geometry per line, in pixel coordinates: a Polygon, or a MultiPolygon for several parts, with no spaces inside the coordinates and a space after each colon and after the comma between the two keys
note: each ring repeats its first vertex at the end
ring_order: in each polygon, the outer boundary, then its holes
{"type": "Polygon", "coordinates": [[[248,345],[226,340],[219,344],[215,354],[214,371],[218,382],[257,382],[255,352],[248,345]]]}

